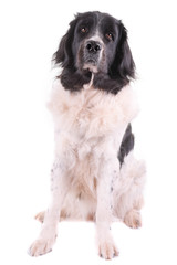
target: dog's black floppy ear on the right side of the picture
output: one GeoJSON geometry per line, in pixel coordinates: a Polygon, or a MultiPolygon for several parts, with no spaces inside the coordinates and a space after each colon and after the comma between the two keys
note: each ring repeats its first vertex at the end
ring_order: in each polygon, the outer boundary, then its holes
{"type": "Polygon", "coordinates": [[[118,78],[119,83],[126,85],[131,80],[135,78],[135,63],[127,42],[127,30],[121,21],[118,25],[118,42],[116,47],[116,55],[111,66],[111,74],[114,78],[118,78]]]}

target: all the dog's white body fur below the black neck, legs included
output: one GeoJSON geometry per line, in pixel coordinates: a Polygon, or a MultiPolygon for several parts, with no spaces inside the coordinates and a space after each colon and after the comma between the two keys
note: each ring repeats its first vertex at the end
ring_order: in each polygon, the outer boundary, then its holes
{"type": "Polygon", "coordinates": [[[38,256],[51,250],[60,216],[93,216],[100,255],[112,258],[118,254],[110,233],[113,215],[136,226],[142,203],[144,167],[131,153],[119,170],[117,159],[125,129],[138,112],[136,95],[131,86],[107,94],[94,89],[92,82],[71,93],[56,82],[49,108],[55,125],[52,201],[30,253],[38,256]]]}

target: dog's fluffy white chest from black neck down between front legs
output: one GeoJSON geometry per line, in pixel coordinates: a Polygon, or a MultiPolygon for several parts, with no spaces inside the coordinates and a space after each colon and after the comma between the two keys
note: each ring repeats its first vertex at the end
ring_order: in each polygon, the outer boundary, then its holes
{"type": "Polygon", "coordinates": [[[82,190],[94,198],[95,180],[104,165],[111,159],[112,168],[118,168],[117,152],[124,131],[137,114],[134,91],[126,86],[112,95],[84,86],[81,92],[71,93],[58,82],[49,108],[62,171],[67,171],[74,194],[82,190]]]}

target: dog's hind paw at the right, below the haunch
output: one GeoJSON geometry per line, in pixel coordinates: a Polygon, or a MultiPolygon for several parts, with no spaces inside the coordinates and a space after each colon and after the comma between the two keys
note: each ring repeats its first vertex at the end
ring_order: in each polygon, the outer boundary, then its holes
{"type": "Polygon", "coordinates": [[[142,227],[142,216],[138,211],[133,209],[132,211],[127,212],[124,218],[124,223],[129,226],[131,229],[139,229],[142,227]]]}

